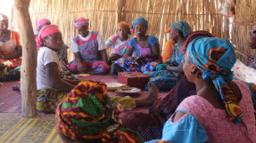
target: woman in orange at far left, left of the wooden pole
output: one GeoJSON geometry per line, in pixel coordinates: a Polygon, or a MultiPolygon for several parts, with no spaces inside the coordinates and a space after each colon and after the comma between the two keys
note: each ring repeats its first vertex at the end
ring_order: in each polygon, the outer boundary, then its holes
{"type": "Polygon", "coordinates": [[[0,13],[0,63],[13,69],[21,66],[21,41],[16,31],[8,29],[8,18],[0,13]]]}

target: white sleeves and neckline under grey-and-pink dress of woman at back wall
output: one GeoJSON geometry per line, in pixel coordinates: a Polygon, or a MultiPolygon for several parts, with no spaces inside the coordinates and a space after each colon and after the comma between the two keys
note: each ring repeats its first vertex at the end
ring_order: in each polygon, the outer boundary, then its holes
{"type": "MultiPolygon", "coordinates": [[[[80,35],[78,35],[78,36],[82,41],[87,41],[92,36],[92,31],[89,31],[89,34],[88,34],[87,37],[83,37],[83,36],[80,36],[80,35]]],[[[107,47],[104,43],[104,40],[103,40],[103,36],[101,36],[99,33],[98,33],[98,36],[97,36],[97,42],[98,42],[98,51],[102,51],[104,49],[107,49],[107,47]]],[[[73,39],[71,40],[71,50],[72,50],[73,53],[74,52],[79,52],[78,44],[76,44],[73,39]]]]}

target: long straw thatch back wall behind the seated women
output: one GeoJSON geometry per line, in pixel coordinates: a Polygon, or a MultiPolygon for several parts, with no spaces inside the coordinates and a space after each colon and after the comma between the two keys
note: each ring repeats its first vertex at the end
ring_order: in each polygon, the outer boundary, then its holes
{"type": "Polygon", "coordinates": [[[88,18],[89,29],[99,31],[104,40],[115,34],[121,20],[131,25],[144,17],[149,22],[147,34],[157,36],[162,46],[169,39],[164,31],[177,20],[186,20],[194,30],[228,38],[220,8],[219,0],[31,0],[29,12],[34,28],[41,18],[58,25],[66,44],[77,35],[73,20],[80,17],[88,18]]]}

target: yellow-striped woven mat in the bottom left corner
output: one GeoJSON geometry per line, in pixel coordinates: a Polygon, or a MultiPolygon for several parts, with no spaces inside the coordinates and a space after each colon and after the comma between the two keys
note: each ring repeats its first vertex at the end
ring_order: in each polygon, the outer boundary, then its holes
{"type": "Polygon", "coordinates": [[[1,119],[0,142],[13,143],[58,143],[54,120],[35,118],[1,119]]]}

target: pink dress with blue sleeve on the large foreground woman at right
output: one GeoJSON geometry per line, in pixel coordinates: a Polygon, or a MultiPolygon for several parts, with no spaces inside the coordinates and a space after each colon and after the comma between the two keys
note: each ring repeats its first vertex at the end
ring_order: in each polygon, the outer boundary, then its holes
{"type": "MultiPolygon", "coordinates": [[[[228,120],[225,109],[215,108],[201,96],[190,96],[182,101],[177,111],[185,112],[174,123],[174,115],[164,124],[161,140],[171,142],[256,142],[256,126],[252,92],[246,83],[235,81],[242,99],[239,106],[243,110],[243,123],[235,124],[228,120]],[[239,140],[239,141],[238,141],[239,140]]],[[[147,143],[153,143],[156,140],[147,143]]]]}

